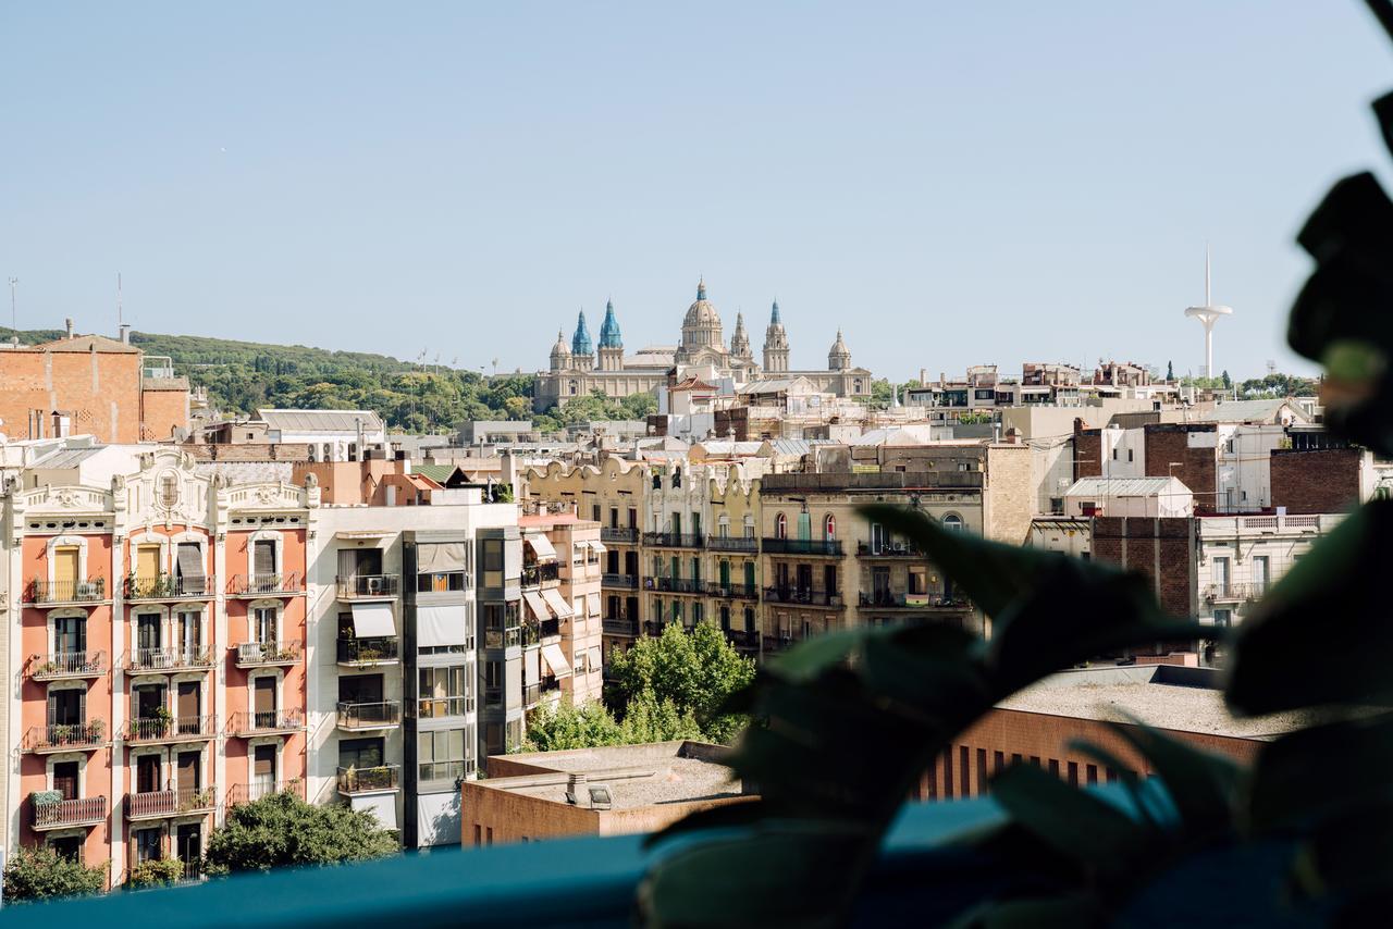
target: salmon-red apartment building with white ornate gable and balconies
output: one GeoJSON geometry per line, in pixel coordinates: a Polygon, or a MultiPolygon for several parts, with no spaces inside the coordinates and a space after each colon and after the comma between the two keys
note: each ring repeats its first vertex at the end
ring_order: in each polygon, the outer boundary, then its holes
{"type": "Polygon", "coordinates": [[[120,883],[192,872],[228,805],[305,776],[312,486],[227,487],[150,447],[106,486],[11,485],[6,813],[120,883]]]}

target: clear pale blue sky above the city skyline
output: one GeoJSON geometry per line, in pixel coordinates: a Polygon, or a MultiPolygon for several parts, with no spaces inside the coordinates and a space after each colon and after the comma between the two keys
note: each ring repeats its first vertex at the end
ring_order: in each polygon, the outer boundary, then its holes
{"type": "Polygon", "coordinates": [[[120,270],[148,331],[535,369],[705,274],[797,366],[1198,372],[1209,240],[1216,366],[1309,370],[1293,235],[1390,65],[1357,0],[8,3],[0,276],[21,327],[114,331],[120,270]]]}

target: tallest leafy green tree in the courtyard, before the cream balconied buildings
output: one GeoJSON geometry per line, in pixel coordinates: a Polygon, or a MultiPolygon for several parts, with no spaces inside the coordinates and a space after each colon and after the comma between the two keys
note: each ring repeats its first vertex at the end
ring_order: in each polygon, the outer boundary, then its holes
{"type": "Polygon", "coordinates": [[[745,720],[722,715],[720,708],[755,678],[755,663],[713,623],[698,623],[691,631],[673,624],[656,638],[638,639],[628,652],[613,652],[610,673],[607,701],[624,721],[634,708],[664,713],[663,705],[671,703],[678,719],[690,716],[706,738],[726,742],[745,720]]]}

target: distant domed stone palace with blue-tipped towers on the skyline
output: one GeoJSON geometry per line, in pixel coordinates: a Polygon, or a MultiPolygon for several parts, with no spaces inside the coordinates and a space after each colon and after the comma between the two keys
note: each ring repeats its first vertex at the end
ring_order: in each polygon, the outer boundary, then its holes
{"type": "Polygon", "coordinates": [[[538,372],[535,405],[543,411],[596,390],[612,398],[652,393],[669,383],[669,375],[681,375],[683,369],[709,369],[717,377],[730,377],[736,383],[762,377],[807,377],[818,390],[839,397],[871,396],[872,375],[865,368],[853,366],[840,330],[827,352],[826,369],[791,369],[788,333],[777,301],[765,329],[762,364],[755,362],[742,313],[736,315],[736,329],[727,345],[720,313],[706,298],[706,283],[699,281],[696,299],[683,318],[677,345],[644,348],[625,355],[613,301],[605,305],[598,344],[592,343],[585,311],[581,311],[570,341],[564,329],[556,333],[547,370],[538,372]]]}

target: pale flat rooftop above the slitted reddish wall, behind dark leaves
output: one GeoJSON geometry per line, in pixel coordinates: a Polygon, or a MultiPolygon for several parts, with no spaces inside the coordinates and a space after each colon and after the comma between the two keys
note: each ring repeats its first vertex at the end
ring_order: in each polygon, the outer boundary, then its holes
{"type": "Polygon", "coordinates": [[[1270,740],[1307,726],[1311,712],[1237,717],[1212,669],[1165,664],[1063,671],[997,703],[1002,709],[1131,723],[1230,738],[1270,740]]]}

